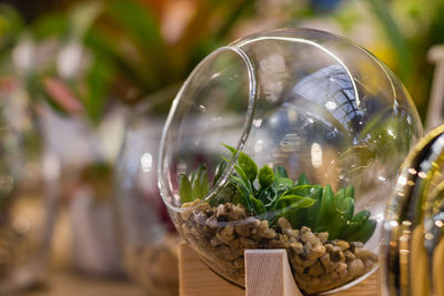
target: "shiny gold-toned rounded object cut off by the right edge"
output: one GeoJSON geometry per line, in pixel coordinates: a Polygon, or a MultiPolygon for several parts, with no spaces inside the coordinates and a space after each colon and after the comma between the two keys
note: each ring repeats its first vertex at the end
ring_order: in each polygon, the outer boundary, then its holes
{"type": "Polygon", "coordinates": [[[402,166],[384,223],[385,293],[444,295],[444,126],[402,166]]]}

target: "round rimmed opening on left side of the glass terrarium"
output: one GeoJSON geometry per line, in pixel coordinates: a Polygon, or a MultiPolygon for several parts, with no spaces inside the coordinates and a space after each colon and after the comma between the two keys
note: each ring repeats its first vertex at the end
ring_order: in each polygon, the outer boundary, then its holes
{"type": "Polygon", "coordinates": [[[194,200],[209,200],[223,186],[238,155],[230,149],[242,149],[252,123],[255,81],[246,55],[232,47],[214,51],[185,81],[161,142],[159,184],[170,208],[181,211],[186,202],[179,188],[183,176],[194,176],[191,185],[209,180],[193,192],[194,200]]]}

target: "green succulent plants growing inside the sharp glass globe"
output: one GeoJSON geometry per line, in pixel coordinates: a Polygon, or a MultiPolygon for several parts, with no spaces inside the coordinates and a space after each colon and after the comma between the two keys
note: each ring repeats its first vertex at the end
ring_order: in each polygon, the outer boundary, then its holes
{"type": "MultiPolygon", "coordinates": [[[[210,202],[212,206],[242,204],[252,216],[260,216],[278,227],[280,217],[285,217],[295,229],[302,226],[313,232],[327,232],[330,239],[365,243],[372,236],[376,221],[366,210],[354,214],[354,187],[340,188],[335,194],[330,185],[310,184],[305,174],[296,181],[289,177],[284,167],[272,170],[266,164],[258,170],[254,161],[244,152],[224,145],[233,155],[238,154],[234,172],[228,184],[210,202]],[[259,186],[258,186],[259,185],[259,186]]],[[[218,165],[213,186],[229,163],[218,165]]],[[[202,200],[211,185],[205,165],[179,177],[182,203],[202,200]]]]}

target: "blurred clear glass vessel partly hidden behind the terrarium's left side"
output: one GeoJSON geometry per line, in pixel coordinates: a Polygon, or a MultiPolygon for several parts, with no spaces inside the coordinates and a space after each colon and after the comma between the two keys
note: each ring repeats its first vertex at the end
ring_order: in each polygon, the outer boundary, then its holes
{"type": "Polygon", "coordinates": [[[179,295],[178,245],[157,178],[159,143],[164,124],[160,102],[176,88],[150,95],[135,108],[125,129],[117,165],[115,205],[127,269],[148,295],[179,295]]]}

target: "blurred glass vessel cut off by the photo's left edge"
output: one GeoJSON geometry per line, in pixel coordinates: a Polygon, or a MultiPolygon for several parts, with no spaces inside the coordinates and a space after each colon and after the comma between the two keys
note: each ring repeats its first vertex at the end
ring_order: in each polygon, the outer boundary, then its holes
{"type": "Polygon", "coordinates": [[[44,277],[57,201],[34,110],[20,79],[0,78],[0,294],[44,277]]]}

